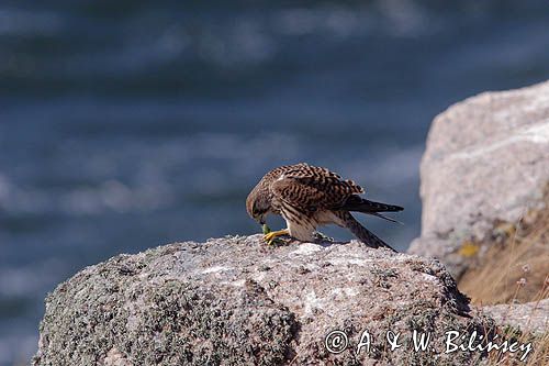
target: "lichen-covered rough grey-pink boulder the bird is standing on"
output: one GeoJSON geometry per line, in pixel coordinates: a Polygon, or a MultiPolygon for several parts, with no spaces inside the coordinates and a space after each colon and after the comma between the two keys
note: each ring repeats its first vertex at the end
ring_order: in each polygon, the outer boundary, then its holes
{"type": "Polygon", "coordinates": [[[85,268],[46,299],[34,365],[450,365],[481,355],[410,352],[413,330],[441,350],[446,331],[489,325],[436,260],[235,236],[85,268]],[[324,344],[333,330],[348,335],[340,354],[324,344]],[[378,346],[357,355],[365,330],[378,346]],[[389,330],[402,350],[382,346],[389,330]]]}

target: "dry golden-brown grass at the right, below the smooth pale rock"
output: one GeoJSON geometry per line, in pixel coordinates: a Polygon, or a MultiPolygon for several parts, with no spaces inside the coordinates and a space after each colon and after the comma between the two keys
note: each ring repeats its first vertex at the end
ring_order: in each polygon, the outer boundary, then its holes
{"type": "MultiPolygon", "coordinates": [[[[498,222],[488,242],[468,245],[488,247],[459,280],[459,289],[473,304],[506,303],[511,314],[516,303],[549,298],[549,189],[545,210],[527,212],[517,224],[498,222]]],[[[530,320],[531,314],[525,329],[501,325],[496,330],[500,339],[531,342],[526,363],[511,354],[491,353],[488,365],[549,365],[549,332],[534,335],[530,320]]]]}

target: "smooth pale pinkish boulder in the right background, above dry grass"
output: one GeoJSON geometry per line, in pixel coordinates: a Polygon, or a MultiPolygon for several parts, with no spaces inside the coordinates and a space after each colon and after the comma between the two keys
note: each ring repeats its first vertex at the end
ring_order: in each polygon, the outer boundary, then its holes
{"type": "Polygon", "coordinates": [[[542,206],[549,182],[549,81],[459,102],[433,122],[421,167],[422,236],[411,253],[452,255],[496,220],[516,222],[542,206]]]}

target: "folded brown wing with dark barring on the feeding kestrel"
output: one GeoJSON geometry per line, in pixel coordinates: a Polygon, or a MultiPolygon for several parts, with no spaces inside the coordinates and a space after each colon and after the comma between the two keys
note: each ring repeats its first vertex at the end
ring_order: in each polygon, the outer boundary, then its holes
{"type": "Polygon", "coordinates": [[[302,212],[338,209],[350,196],[363,192],[352,180],[306,164],[288,167],[270,189],[276,198],[302,212]]]}

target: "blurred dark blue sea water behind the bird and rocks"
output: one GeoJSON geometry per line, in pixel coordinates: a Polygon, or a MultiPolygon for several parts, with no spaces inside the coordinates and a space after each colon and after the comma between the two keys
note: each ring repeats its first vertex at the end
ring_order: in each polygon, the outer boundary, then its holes
{"type": "Polygon", "coordinates": [[[244,201],[278,165],[404,206],[361,221],[405,249],[433,118],[547,78],[547,1],[0,2],[0,365],[83,266],[258,232],[244,201]]]}

